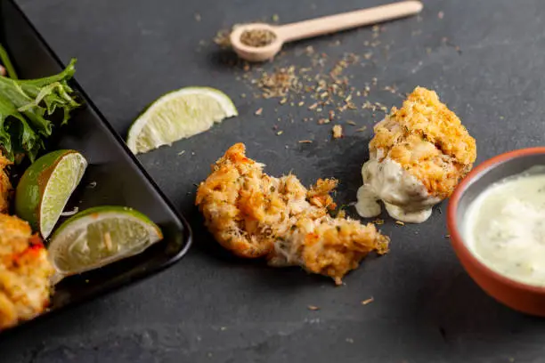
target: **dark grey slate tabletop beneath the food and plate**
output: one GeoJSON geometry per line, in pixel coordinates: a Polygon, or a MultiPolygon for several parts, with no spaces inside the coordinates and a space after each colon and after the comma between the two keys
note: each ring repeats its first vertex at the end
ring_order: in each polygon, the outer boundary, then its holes
{"type": "MultiPolygon", "coordinates": [[[[155,278],[3,338],[0,361],[545,361],[544,322],[495,303],[468,278],[444,238],[444,214],[438,210],[419,226],[386,222],[391,254],[365,262],[341,287],[297,269],[233,259],[201,227],[192,206],[193,183],[236,141],[245,141],[249,156],[266,163],[270,173],[293,170],[305,183],[338,177],[339,201],[353,201],[369,130],[381,117],[368,110],[343,116],[368,125],[368,131],[354,133],[346,125],[348,136],[330,141],[330,125],[301,121],[310,116],[303,109],[286,106],[275,113],[277,101],[242,99],[240,93],[252,89],[224,65],[229,56],[211,43],[216,31],[272,14],[288,22],[380,0],[19,3],[62,60],[79,58],[78,81],[119,133],[126,133],[148,102],[183,85],[223,89],[240,117],[140,157],[191,220],[196,231],[191,253],[155,278]],[[264,115],[256,117],[261,107],[264,115]],[[275,135],[274,125],[284,133],[275,135]],[[301,139],[314,142],[297,143],[301,139]],[[363,306],[370,296],[374,303],[363,306]],[[321,310],[309,311],[309,304],[321,310]]],[[[403,93],[415,85],[434,88],[476,136],[479,160],[540,145],[544,13],[541,0],[428,0],[419,20],[386,25],[375,64],[346,74],[358,88],[372,77],[378,87],[395,84],[403,93]],[[391,45],[387,55],[384,44],[391,45]]],[[[297,54],[309,44],[331,59],[343,52],[362,54],[366,40],[372,40],[369,28],[296,44],[275,65],[302,66],[305,57],[297,54]]],[[[371,92],[370,101],[390,106],[401,99],[371,92]]]]}

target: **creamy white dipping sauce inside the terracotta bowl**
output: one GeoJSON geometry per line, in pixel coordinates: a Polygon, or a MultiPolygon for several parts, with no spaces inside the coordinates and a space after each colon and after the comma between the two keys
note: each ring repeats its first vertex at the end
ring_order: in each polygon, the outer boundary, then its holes
{"type": "Polygon", "coordinates": [[[545,167],[492,184],[468,207],[463,235],[486,266],[545,286],[545,167]]]}

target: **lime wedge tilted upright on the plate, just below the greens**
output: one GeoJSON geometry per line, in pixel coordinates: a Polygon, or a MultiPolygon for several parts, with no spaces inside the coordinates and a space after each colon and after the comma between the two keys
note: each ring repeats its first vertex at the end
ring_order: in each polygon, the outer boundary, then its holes
{"type": "Polygon", "coordinates": [[[57,150],[37,159],[20,178],[15,213],[43,238],[49,237],[87,167],[74,150],[57,150]]]}

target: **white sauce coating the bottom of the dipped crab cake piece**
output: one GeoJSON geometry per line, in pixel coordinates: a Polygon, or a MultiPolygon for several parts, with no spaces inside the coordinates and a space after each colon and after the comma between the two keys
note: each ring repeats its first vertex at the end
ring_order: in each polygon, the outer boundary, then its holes
{"type": "Polygon", "coordinates": [[[371,156],[362,167],[362,177],[356,211],[363,218],[378,216],[381,209],[378,200],[382,200],[392,218],[421,223],[431,215],[432,206],[441,201],[432,197],[421,181],[389,157],[378,161],[376,156],[371,156]]]}

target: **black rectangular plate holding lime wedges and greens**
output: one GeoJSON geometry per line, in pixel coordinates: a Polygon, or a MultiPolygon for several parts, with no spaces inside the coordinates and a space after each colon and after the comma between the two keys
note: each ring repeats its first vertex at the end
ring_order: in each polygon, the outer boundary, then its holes
{"type": "MultiPolygon", "coordinates": [[[[7,48],[21,79],[51,76],[63,69],[12,0],[0,0],[0,43],[7,48]]],[[[71,85],[85,105],[73,113],[69,125],[56,127],[55,138],[47,145],[50,150],[76,149],[89,163],[67,210],[76,206],[80,211],[92,206],[130,206],[159,224],[165,238],[142,254],[61,281],[51,309],[41,317],[149,277],[181,259],[191,245],[189,224],[176,214],[77,82],[71,85]]]]}

